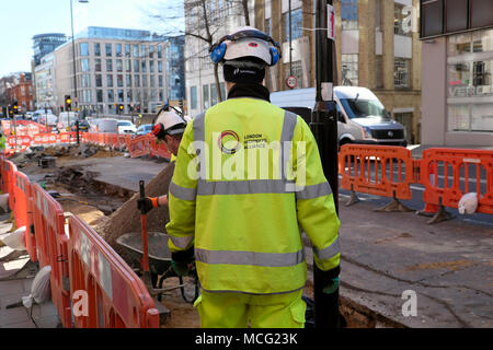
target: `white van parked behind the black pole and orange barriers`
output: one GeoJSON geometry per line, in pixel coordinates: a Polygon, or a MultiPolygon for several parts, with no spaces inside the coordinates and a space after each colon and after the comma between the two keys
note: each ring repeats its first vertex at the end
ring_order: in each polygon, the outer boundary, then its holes
{"type": "MultiPolygon", "coordinates": [[[[314,88],[279,91],[271,94],[271,102],[289,109],[309,122],[316,106],[314,88]]],[[[404,127],[390,118],[378,97],[360,86],[335,86],[339,144],[369,143],[408,145],[404,127]]]]}

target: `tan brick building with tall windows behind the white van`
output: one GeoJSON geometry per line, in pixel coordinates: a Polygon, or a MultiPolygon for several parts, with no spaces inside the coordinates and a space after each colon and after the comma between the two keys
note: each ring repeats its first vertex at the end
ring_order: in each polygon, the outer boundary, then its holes
{"type": "MultiPolygon", "coordinates": [[[[316,86],[316,5],[313,0],[255,1],[255,23],[283,48],[283,61],[270,70],[271,91],[316,86]],[[289,56],[291,59],[289,60],[289,56]]],[[[402,122],[410,143],[421,139],[421,42],[415,28],[419,0],[334,0],[335,84],[370,89],[402,122]]]]}

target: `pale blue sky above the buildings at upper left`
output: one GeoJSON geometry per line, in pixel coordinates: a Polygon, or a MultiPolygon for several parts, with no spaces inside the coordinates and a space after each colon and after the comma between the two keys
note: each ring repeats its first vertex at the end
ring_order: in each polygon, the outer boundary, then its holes
{"type": "MultiPolygon", "coordinates": [[[[163,25],[151,19],[163,5],[177,0],[89,0],[73,1],[73,31],[88,26],[147,30],[163,33],[163,25]]],[[[162,10],[161,10],[162,11],[162,10]]],[[[0,78],[31,71],[32,37],[43,33],[71,36],[70,0],[0,0],[0,78]]]]}

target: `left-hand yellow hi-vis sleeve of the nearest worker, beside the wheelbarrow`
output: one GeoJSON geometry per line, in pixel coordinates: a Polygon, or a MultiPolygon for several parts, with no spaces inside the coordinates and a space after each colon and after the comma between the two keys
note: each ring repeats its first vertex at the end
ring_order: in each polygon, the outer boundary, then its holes
{"type": "Polygon", "coordinates": [[[169,191],[170,222],[167,233],[172,253],[186,250],[194,244],[197,166],[193,142],[193,122],[190,122],[182,137],[169,191]]]}

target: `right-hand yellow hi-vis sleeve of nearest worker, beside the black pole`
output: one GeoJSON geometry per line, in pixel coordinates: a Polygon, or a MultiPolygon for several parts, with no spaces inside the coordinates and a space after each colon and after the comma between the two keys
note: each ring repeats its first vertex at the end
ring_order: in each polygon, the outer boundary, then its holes
{"type": "Polygon", "coordinates": [[[317,266],[323,271],[333,269],[339,266],[341,257],[341,222],[331,186],[323,174],[317,142],[299,116],[293,138],[293,163],[298,222],[312,243],[317,266]]]}

